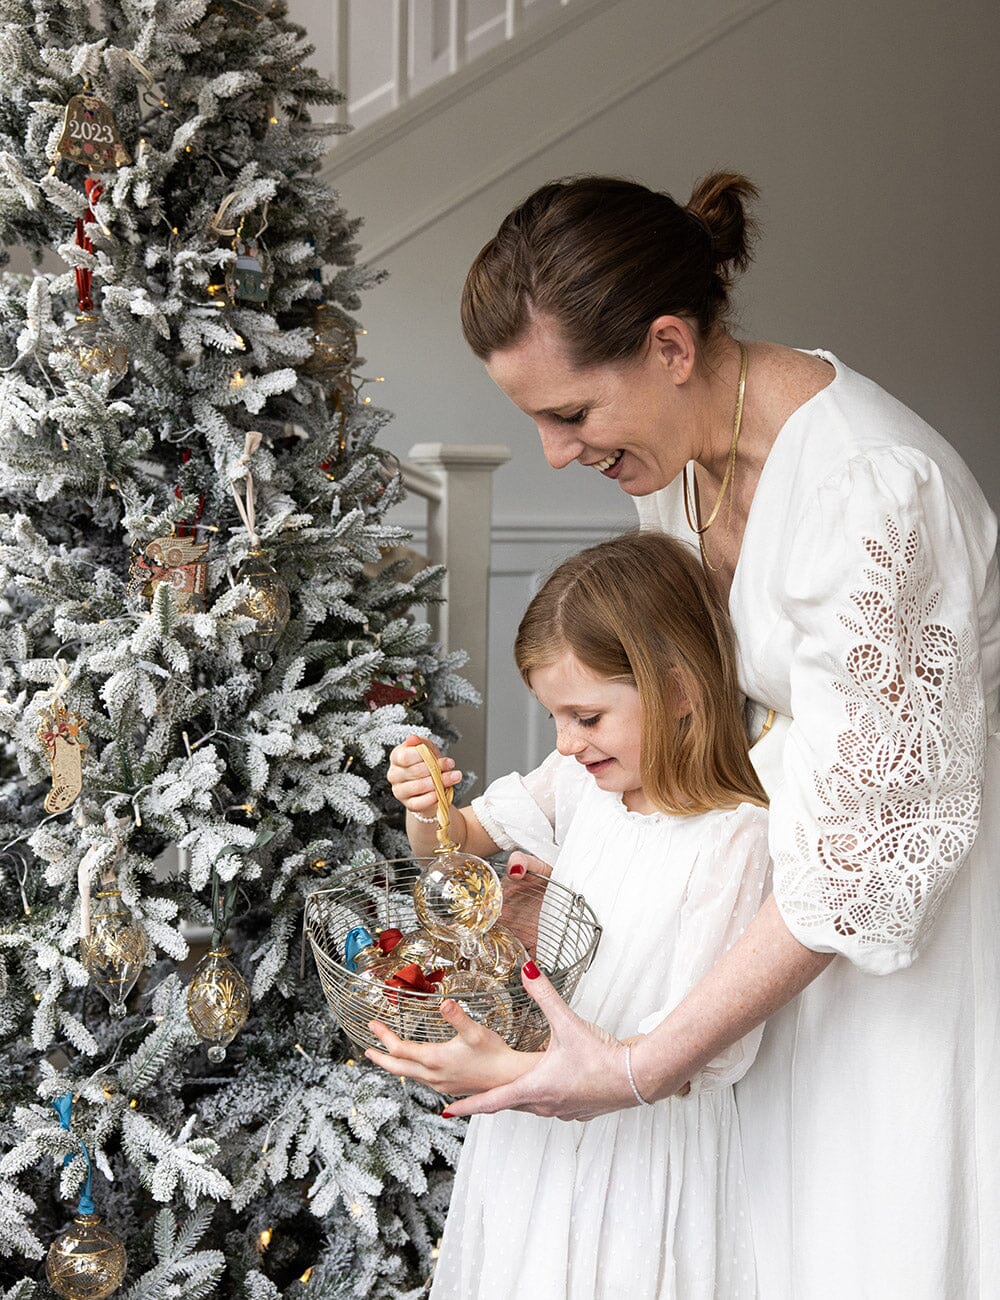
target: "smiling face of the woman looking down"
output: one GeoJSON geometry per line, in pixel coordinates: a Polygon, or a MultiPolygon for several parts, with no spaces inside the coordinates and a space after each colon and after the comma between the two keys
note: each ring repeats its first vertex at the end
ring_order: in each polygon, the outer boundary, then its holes
{"type": "Polygon", "coordinates": [[[689,459],[676,434],[675,386],[658,354],[579,369],[555,329],[536,318],[524,338],[486,361],[493,382],[534,420],[554,469],[593,467],[632,497],[664,488],[689,459]]]}

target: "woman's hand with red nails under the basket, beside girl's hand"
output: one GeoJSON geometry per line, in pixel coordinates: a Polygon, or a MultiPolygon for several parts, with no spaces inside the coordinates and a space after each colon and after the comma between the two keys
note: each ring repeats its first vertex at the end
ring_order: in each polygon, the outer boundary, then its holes
{"type": "Polygon", "coordinates": [[[450,1102],[449,1113],[527,1110],[558,1119],[593,1119],[637,1105],[628,1086],[624,1043],[581,1020],[533,963],[521,968],[521,983],[549,1020],[549,1046],[515,1082],[450,1102]]]}

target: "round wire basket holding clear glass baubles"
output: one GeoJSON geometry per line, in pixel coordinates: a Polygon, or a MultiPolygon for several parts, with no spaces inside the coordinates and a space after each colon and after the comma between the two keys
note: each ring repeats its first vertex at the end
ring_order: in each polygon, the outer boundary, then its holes
{"type": "MultiPolygon", "coordinates": [[[[377,1019],[401,1037],[445,1043],[455,1031],[440,1014],[442,993],[419,993],[362,979],[343,965],[347,932],[364,926],[417,930],[412,887],[434,858],[394,858],[363,867],[342,867],[326,889],[306,900],[303,941],[308,939],[322,992],[334,1019],[363,1052],[381,1048],[368,1028],[377,1019]]],[[[524,944],[558,992],[572,996],[593,961],[601,926],[583,894],[534,871],[525,872],[505,900],[501,922],[524,944]]],[[[495,1028],[511,1046],[537,1052],[549,1041],[549,1024],[524,992],[520,972],[489,993],[463,993],[456,1001],[482,1024],[495,1028]]]]}

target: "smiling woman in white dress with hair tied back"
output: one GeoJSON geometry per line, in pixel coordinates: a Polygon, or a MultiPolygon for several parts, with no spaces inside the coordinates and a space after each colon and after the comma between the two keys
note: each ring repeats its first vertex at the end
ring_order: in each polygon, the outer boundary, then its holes
{"type": "Polygon", "coordinates": [[[549,1052],[450,1112],[655,1101],[769,1019],[739,1093],[765,1300],[997,1296],[996,524],[874,384],[727,330],[754,196],[547,185],[468,276],[466,337],[549,463],[701,546],[748,697],[792,722],[774,896],[727,956],[631,1062],[525,980],[549,1052]]]}

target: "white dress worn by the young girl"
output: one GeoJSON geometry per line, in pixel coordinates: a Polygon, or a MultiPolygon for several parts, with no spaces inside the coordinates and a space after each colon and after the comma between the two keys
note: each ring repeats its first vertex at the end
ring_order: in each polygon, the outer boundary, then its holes
{"type": "MultiPolygon", "coordinates": [[[[629,812],[573,758],[489,786],[501,848],[555,859],[605,927],[572,1006],[615,1035],[651,1028],[741,933],[766,888],[767,815],[629,812]]],[[[753,1242],[732,1083],[752,1035],[687,1097],[588,1123],[476,1115],[433,1300],[749,1300],[753,1242]]]]}

